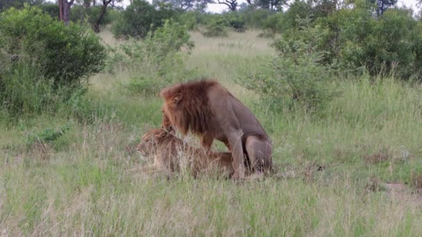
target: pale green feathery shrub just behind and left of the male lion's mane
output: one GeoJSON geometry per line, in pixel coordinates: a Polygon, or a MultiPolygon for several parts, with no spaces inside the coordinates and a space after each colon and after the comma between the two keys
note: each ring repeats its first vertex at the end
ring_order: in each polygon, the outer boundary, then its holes
{"type": "MultiPolygon", "coordinates": [[[[155,32],[149,32],[144,41],[133,41],[120,46],[123,55],[112,49],[112,62],[122,62],[133,75],[126,85],[132,94],[154,94],[164,85],[192,77],[185,69],[186,53],[194,43],[189,40],[186,26],[171,20],[155,32]],[[185,49],[185,50],[183,50],[185,49]],[[117,60],[115,60],[117,59],[117,60]]],[[[111,66],[117,66],[110,64],[111,66]]]]}

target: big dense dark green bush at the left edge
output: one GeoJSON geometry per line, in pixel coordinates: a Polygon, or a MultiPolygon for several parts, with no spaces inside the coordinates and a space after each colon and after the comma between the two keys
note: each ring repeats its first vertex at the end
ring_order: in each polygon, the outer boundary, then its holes
{"type": "Polygon", "coordinates": [[[83,26],[28,6],[0,17],[0,100],[10,116],[54,112],[105,64],[105,48],[83,26]]]}

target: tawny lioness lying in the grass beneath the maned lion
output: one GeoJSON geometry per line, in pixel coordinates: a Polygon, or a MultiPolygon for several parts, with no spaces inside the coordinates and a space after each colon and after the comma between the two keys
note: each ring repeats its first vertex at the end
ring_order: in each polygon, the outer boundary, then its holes
{"type": "Polygon", "coordinates": [[[194,148],[163,129],[146,132],[136,150],[147,156],[154,155],[153,167],[166,173],[180,169],[180,155],[187,157],[189,163],[187,166],[194,177],[215,168],[229,177],[233,173],[230,152],[210,152],[194,148]]]}

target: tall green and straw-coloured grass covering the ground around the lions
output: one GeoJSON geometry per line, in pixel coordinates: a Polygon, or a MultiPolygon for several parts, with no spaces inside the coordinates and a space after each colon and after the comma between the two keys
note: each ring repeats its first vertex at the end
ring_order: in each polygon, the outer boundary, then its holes
{"type": "Polygon", "coordinates": [[[101,73],[88,92],[92,123],[40,116],[0,126],[0,236],[421,236],[422,88],[338,80],[342,94],[324,116],[273,113],[234,82],[273,53],[256,35],[192,33],[187,65],[256,114],[278,175],[234,183],[128,172],[151,162],[135,146],[160,125],[161,101],[122,92],[124,70],[101,73]],[[28,147],[33,134],[65,126],[53,143],[28,147]]]}

